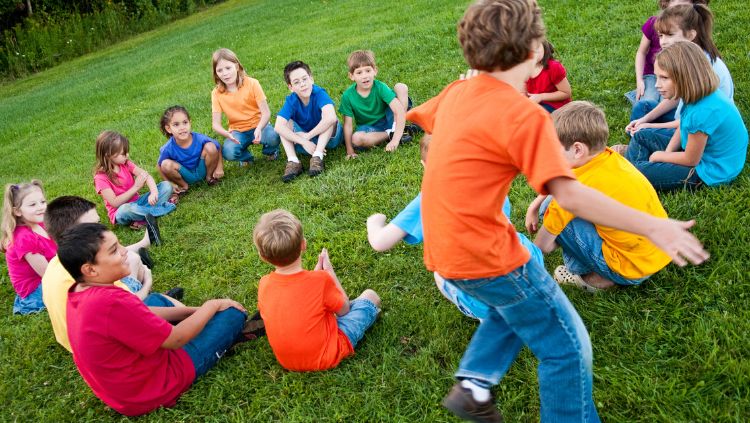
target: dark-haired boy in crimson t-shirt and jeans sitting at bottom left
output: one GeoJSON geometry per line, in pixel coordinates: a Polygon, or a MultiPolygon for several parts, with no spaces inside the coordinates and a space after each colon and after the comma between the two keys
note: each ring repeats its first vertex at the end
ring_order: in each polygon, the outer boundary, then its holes
{"type": "Polygon", "coordinates": [[[115,286],[130,273],[127,250],[99,223],[63,232],[57,255],[76,280],[67,308],[73,361],[94,394],[119,413],[173,406],[243,339],[246,314],[236,301],[209,300],[156,314],[115,286]]]}

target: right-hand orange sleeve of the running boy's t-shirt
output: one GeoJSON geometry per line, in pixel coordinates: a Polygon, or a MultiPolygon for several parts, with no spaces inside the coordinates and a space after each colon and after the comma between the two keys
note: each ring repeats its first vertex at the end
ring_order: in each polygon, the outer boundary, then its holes
{"type": "Polygon", "coordinates": [[[575,179],[570,165],[560,152],[560,141],[549,113],[542,108],[529,108],[519,116],[523,124],[509,137],[507,146],[510,160],[526,176],[539,194],[548,194],[547,182],[557,177],[575,179]]]}

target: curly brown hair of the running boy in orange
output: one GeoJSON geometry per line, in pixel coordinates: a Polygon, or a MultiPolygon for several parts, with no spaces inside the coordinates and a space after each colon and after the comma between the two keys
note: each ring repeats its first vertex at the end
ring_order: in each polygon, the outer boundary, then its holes
{"type": "Polygon", "coordinates": [[[544,37],[535,0],[478,0],[458,23],[458,41],[470,67],[508,70],[528,60],[544,37]]]}

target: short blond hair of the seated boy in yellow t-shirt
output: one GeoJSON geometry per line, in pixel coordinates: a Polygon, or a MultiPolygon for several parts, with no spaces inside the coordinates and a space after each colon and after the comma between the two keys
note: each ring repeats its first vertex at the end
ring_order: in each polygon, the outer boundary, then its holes
{"type": "Polygon", "coordinates": [[[566,150],[575,142],[586,145],[591,153],[598,153],[607,146],[607,118],[594,103],[571,101],[552,112],[552,123],[566,150]]]}

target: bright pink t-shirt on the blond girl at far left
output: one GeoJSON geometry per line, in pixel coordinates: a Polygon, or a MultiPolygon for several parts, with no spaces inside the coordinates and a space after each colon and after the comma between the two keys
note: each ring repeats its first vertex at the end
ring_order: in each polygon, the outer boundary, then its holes
{"type": "MultiPolygon", "coordinates": [[[[39,225],[44,227],[44,224],[39,225]]],[[[24,258],[29,253],[41,254],[50,261],[57,254],[57,244],[32,231],[28,226],[18,226],[13,231],[13,242],[5,252],[5,261],[8,263],[10,283],[21,298],[28,297],[42,282],[42,277],[24,258]]]]}

